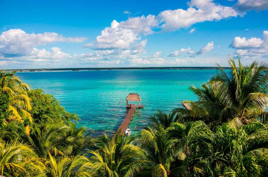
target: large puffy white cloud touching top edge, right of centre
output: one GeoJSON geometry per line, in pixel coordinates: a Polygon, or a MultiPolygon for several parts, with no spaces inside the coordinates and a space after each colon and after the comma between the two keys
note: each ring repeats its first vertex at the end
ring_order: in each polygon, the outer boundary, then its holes
{"type": "Polygon", "coordinates": [[[224,18],[237,17],[239,14],[232,7],[222,6],[213,2],[213,0],[192,0],[187,2],[189,8],[165,10],[158,15],[163,23],[161,28],[164,30],[177,30],[189,27],[195,23],[204,21],[218,21],[224,18]]]}

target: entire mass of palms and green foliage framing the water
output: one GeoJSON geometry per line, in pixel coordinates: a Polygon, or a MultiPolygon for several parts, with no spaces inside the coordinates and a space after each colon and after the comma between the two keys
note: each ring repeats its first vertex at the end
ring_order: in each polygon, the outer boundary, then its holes
{"type": "MultiPolygon", "coordinates": [[[[136,135],[92,136],[42,89],[0,72],[0,176],[267,176],[268,64],[218,71],[197,101],[157,111],[136,135]]],[[[152,113],[153,114],[153,113],[152,113]]]]}

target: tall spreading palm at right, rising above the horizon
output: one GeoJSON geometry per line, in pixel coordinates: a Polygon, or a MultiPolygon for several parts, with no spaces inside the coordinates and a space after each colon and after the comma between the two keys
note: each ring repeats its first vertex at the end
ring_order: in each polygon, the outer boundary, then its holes
{"type": "Polygon", "coordinates": [[[201,88],[190,87],[198,101],[186,101],[190,110],[176,109],[183,120],[204,120],[212,126],[232,121],[236,128],[252,119],[267,121],[268,63],[254,61],[246,66],[238,61],[237,67],[230,58],[229,74],[218,65],[218,73],[201,88]]]}

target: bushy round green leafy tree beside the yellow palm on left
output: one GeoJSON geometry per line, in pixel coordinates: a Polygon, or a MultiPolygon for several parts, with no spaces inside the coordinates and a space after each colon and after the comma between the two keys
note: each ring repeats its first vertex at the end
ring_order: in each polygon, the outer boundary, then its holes
{"type": "Polygon", "coordinates": [[[31,114],[38,126],[46,123],[70,125],[79,120],[77,114],[65,111],[53,95],[45,94],[42,89],[28,91],[28,95],[32,99],[31,114]]]}

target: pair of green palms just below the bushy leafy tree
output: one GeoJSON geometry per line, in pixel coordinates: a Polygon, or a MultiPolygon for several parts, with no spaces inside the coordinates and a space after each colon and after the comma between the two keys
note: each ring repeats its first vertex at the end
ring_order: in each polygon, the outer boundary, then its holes
{"type": "Polygon", "coordinates": [[[75,124],[48,124],[31,128],[27,135],[29,144],[34,147],[35,153],[41,158],[49,154],[54,156],[74,156],[82,154],[85,148],[94,142],[90,133],[85,134],[84,127],[76,128],[75,124]]]}

